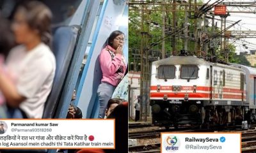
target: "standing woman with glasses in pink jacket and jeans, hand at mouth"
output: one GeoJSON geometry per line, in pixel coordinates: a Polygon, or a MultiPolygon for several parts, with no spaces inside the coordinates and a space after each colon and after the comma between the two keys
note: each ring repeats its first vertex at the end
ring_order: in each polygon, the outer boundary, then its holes
{"type": "Polygon", "coordinates": [[[98,87],[100,102],[99,119],[104,119],[106,106],[116,86],[125,74],[126,65],[123,55],[124,33],[113,31],[100,52],[101,84],[98,87]]]}

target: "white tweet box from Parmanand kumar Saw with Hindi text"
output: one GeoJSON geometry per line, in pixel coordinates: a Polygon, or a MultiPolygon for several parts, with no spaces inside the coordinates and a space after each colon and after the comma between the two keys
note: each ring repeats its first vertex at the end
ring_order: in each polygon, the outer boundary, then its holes
{"type": "Polygon", "coordinates": [[[81,148],[115,149],[115,120],[0,120],[0,149],[81,148]]]}

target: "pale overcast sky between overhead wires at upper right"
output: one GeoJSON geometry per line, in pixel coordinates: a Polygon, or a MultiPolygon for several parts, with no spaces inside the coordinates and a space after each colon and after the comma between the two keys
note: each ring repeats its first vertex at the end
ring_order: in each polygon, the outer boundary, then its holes
{"type": "MultiPolygon", "coordinates": [[[[205,3],[207,3],[209,0],[204,0],[205,3]]],[[[225,0],[223,2],[244,2],[244,0],[225,0]]],[[[246,2],[255,2],[256,0],[245,0],[246,2]]],[[[210,4],[214,3],[214,0],[210,1],[210,4]]],[[[256,7],[251,7],[252,11],[255,10],[256,7]]],[[[235,7],[227,7],[228,11],[248,11],[248,8],[235,8],[235,7]]],[[[255,12],[256,13],[256,12],[255,12]]],[[[216,17],[217,18],[217,17],[216,17]]],[[[218,17],[220,18],[220,17],[218,17]]],[[[230,16],[227,17],[227,25],[231,25],[231,22],[236,22],[237,20],[241,20],[239,24],[236,24],[234,27],[230,28],[229,30],[233,31],[256,31],[256,14],[253,13],[230,13],[230,16]],[[230,22],[231,21],[231,22],[230,22]]],[[[220,27],[220,23],[218,23],[218,27],[220,27]]],[[[231,40],[230,40],[231,41],[231,40]]],[[[256,38],[243,38],[241,40],[237,40],[235,43],[233,43],[236,46],[236,52],[250,52],[250,50],[256,50],[256,38]],[[245,44],[248,49],[243,47],[243,44],[245,44]]]]}

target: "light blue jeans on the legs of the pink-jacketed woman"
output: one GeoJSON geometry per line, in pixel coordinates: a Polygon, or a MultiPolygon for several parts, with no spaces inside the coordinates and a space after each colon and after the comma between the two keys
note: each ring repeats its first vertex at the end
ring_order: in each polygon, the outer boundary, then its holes
{"type": "Polygon", "coordinates": [[[100,102],[99,108],[99,119],[104,119],[106,107],[108,105],[109,99],[111,99],[113,92],[115,91],[115,87],[110,84],[101,83],[98,89],[98,96],[100,102]]]}

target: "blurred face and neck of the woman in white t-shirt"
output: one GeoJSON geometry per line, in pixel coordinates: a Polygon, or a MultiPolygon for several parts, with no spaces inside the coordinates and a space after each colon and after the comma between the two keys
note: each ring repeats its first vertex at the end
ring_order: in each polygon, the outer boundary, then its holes
{"type": "Polygon", "coordinates": [[[38,39],[38,37],[40,38],[39,32],[29,27],[26,22],[26,13],[23,10],[18,10],[15,13],[12,31],[15,35],[16,42],[20,44],[26,44],[38,39]]]}

